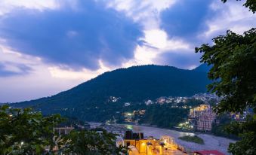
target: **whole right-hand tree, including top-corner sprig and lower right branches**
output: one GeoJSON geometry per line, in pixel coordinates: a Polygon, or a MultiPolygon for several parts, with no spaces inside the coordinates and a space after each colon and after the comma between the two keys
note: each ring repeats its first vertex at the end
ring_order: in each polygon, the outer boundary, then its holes
{"type": "MultiPolygon", "coordinates": [[[[227,0],[222,0],[227,2],[227,0]]],[[[247,0],[245,7],[256,11],[255,0],[247,0]]],[[[214,45],[202,44],[196,53],[203,53],[201,62],[211,65],[208,85],[211,93],[221,96],[215,107],[218,114],[240,112],[252,108],[245,123],[233,122],[227,132],[239,135],[241,141],[230,144],[233,154],[254,154],[256,152],[256,29],[252,28],[243,35],[227,31],[213,39],[214,45]]]]}

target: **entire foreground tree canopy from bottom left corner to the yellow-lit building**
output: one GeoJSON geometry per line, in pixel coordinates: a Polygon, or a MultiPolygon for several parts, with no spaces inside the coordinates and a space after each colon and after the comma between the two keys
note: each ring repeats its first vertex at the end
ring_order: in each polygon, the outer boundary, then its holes
{"type": "Polygon", "coordinates": [[[116,135],[82,130],[58,135],[54,127],[63,122],[59,114],[44,117],[30,108],[0,107],[0,154],[119,154],[116,135]],[[54,148],[58,147],[58,150],[54,148]]]}

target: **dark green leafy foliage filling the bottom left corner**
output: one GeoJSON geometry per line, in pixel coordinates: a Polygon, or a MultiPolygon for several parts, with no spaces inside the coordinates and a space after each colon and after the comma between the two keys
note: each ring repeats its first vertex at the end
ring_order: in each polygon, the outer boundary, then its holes
{"type": "Polygon", "coordinates": [[[30,108],[0,107],[0,154],[39,154],[55,146],[53,127],[59,114],[43,117],[30,108]]]}

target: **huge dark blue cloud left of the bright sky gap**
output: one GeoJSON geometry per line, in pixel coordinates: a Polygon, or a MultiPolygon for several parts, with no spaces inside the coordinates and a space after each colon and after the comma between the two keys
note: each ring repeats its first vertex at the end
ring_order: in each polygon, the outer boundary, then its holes
{"type": "Polygon", "coordinates": [[[55,10],[17,8],[0,17],[2,44],[73,69],[95,70],[100,60],[111,66],[132,59],[141,29],[94,1],[66,2],[55,10]]]}

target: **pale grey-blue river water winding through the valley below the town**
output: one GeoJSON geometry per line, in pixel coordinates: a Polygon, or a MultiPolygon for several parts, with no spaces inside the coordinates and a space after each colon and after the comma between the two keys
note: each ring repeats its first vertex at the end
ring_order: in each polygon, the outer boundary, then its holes
{"type": "MultiPolygon", "coordinates": [[[[90,123],[96,125],[100,123],[90,123]]],[[[162,135],[168,135],[174,138],[177,144],[187,147],[190,150],[219,150],[222,153],[227,153],[227,148],[231,142],[235,142],[229,138],[217,137],[214,135],[202,134],[202,133],[190,133],[190,132],[179,132],[171,129],[161,129],[151,126],[136,126],[136,125],[120,125],[125,126],[128,129],[132,129],[134,132],[143,132],[144,136],[153,136],[154,138],[161,138],[162,135]],[[196,144],[193,142],[182,141],[179,137],[184,135],[197,135],[202,138],[205,144],[196,144]]]]}

